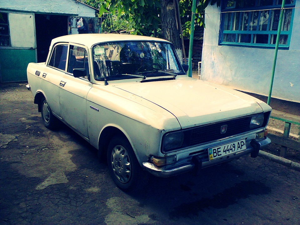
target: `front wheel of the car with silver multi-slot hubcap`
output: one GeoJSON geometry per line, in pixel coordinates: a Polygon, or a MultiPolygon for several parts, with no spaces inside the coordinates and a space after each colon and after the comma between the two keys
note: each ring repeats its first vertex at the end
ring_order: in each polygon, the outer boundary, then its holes
{"type": "Polygon", "coordinates": [[[116,185],[125,192],[142,189],[148,182],[148,173],[143,171],[124,136],[115,136],[108,144],[108,170],[116,185]]]}

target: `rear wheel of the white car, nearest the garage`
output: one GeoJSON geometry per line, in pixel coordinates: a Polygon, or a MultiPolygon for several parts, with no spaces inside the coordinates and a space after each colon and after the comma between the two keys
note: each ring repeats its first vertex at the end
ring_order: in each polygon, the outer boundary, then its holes
{"type": "Polygon", "coordinates": [[[46,128],[56,130],[59,127],[59,120],[52,114],[45,97],[41,99],[41,115],[46,128]]]}

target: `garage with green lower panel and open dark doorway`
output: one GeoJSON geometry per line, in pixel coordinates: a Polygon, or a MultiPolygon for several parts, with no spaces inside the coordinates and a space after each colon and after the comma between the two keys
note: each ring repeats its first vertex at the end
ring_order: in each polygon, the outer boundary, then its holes
{"type": "Polygon", "coordinates": [[[54,37],[83,32],[100,32],[96,13],[76,0],[0,1],[0,82],[26,81],[30,62],[45,62],[54,37]]]}

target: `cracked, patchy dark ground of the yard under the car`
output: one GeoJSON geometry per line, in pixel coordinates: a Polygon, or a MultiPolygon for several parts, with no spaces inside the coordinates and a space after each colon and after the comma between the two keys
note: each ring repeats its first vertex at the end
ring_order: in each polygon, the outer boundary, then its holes
{"type": "Polygon", "coordinates": [[[1,225],[300,224],[300,172],[262,157],[121,191],[80,136],[44,127],[26,84],[0,84],[1,225]]]}

